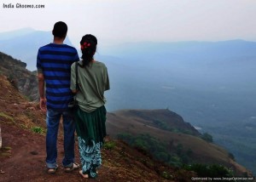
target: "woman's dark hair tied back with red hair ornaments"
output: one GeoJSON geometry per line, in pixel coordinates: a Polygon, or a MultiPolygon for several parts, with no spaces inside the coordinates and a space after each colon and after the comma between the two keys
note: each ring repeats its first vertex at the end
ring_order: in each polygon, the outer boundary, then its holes
{"type": "Polygon", "coordinates": [[[93,55],[96,52],[97,39],[95,36],[86,34],[80,41],[83,66],[89,65],[93,60],[93,55]]]}

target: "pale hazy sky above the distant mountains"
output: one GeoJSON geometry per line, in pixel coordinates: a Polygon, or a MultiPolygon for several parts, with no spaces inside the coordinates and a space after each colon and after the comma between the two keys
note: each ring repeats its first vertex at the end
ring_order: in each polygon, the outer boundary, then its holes
{"type": "Polygon", "coordinates": [[[255,0],[2,0],[0,32],[69,27],[76,44],[91,33],[105,44],[138,41],[256,41],[255,0]],[[3,8],[3,4],[15,8],[3,8]],[[43,4],[18,9],[16,4],[43,4]]]}

